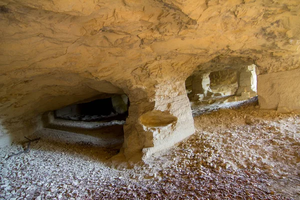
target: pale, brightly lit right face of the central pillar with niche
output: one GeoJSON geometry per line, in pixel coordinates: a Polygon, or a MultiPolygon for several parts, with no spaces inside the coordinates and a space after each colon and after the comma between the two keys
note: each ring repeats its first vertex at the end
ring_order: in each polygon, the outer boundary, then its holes
{"type": "Polygon", "coordinates": [[[162,82],[155,86],[155,111],[145,114],[157,116],[156,123],[148,126],[141,121],[144,130],[153,136],[153,147],[143,148],[143,157],[171,147],[195,131],[184,81],[162,82]]]}

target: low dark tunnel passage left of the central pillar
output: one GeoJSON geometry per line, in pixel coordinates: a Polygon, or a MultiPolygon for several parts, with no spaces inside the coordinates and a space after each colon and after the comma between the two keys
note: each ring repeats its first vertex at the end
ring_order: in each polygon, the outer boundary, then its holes
{"type": "Polygon", "coordinates": [[[40,136],[119,150],[124,141],[128,106],[125,94],[102,94],[64,106],[45,113],[49,122],[40,136]]]}

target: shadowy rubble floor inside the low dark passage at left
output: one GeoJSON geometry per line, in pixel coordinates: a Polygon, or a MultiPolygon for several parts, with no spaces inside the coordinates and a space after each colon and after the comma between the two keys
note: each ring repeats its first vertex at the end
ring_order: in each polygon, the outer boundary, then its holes
{"type": "Polygon", "coordinates": [[[102,121],[86,122],[55,118],[32,136],[60,143],[115,148],[121,146],[124,141],[124,123],[125,121],[117,120],[103,123],[102,121]]]}

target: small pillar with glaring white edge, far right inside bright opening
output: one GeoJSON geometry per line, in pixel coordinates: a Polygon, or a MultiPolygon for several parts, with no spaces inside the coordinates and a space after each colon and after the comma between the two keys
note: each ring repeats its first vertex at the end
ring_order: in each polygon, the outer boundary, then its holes
{"type": "Polygon", "coordinates": [[[237,73],[238,87],[236,90],[237,96],[242,96],[245,99],[256,96],[256,73],[255,65],[242,67],[237,73]]]}

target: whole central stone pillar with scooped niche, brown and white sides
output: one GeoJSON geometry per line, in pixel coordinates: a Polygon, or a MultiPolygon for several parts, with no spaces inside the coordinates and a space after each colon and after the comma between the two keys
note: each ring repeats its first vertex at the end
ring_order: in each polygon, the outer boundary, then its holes
{"type": "Polygon", "coordinates": [[[128,94],[130,106],[124,143],[118,156],[138,161],[168,148],[194,133],[184,81],[161,82],[128,94]]]}

